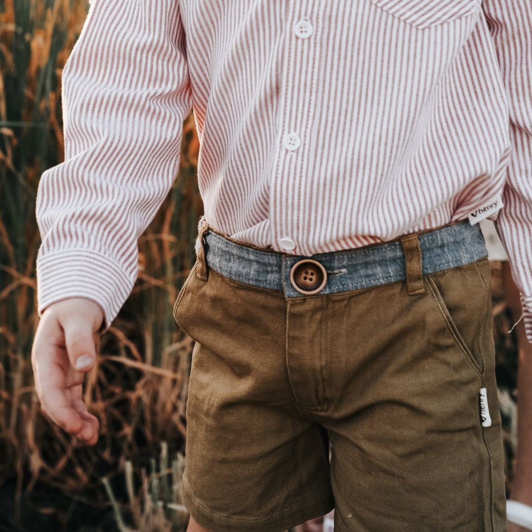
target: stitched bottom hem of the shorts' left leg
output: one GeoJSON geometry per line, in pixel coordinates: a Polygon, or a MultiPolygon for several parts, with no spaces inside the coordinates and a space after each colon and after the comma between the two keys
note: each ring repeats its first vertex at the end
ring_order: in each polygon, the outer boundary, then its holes
{"type": "Polygon", "coordinates": [[[230,518],[211,512],[194,496],[186,476],[182,480],[182,500],[190,516],[209,532],[242,530],[249,532],[283,532],[301,523],[324,516],[334,508],[334,497],[327,489],[298,498],[270,516],[260,519],[230,518]]]}

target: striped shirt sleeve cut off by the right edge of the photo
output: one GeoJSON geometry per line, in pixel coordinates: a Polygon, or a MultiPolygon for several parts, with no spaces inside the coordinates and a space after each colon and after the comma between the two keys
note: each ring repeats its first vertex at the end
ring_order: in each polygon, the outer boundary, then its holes
{"type": "Polygon", "coordinates": [[[532,342],[532,2],[483,0],[510,111],[510,154],[495,221],[532,342]]]}

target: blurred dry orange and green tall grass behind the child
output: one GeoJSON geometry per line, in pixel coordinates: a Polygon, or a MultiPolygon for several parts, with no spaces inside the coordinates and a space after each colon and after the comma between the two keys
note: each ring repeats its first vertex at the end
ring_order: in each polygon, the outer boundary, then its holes
{"type": "MultiPolygon", "coordinates": [[[[171,308],[194,263],[202,203],[198,139],[184,123],[181,168],[139,240],[140,272],[100,338],[85,402],[101,423],[94,447],[41,413],[30,352],[38,323],[35,261],[40,174],[63,161],[61,71],[87,0],[0,0],[0,531],[184,530],[180,504],[192,340],[171,308]]],[[[506,468],[516,443],[517,351],[493,263],[494,335],[506,468]]]]}

